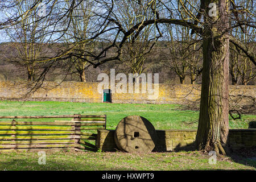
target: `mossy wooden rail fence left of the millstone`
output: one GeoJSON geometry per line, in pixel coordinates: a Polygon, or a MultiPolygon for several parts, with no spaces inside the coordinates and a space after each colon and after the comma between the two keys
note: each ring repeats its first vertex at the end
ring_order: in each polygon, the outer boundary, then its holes
{"type": "Polygon", "coordinates": [[[81,149],[95,151],[97,134],[93,130],[106,129],[106,115],[0,116],[0,119],[3,118],[6,121],[0,121],[0,152],[81,149]],[[39,118],[63,120],[36,121],[39,118]],[[35,121],[16,121],[18,119],[35,121]],[[94,144],[87,140],[94,140],[94,144]]]}

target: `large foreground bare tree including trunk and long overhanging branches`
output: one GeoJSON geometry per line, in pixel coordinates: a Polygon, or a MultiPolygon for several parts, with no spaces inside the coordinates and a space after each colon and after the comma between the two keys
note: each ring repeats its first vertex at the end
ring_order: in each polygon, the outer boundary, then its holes
{"type": "MultiPolygon", "coordinates": [[[[64,28],[60,30],[52,29],[48,35],[56,34],[55,41],[60,41],[64,38],[70,24],[73,10],[76,9],[79,3],[83,1],[71,1],[71,6],[61,6],[60,4],[51,4],[51,10],[59,11],[59,16],[53,21],[54,25],[65,23],[64,28]],[[77,3],[75,3],[77,2],[77,3]]],[[[101,51],[90,54],[90,63],[94,68],[107,63],[109,61],[121,60],[122,48],[128,42],[130,36],[134,36],[134,40],[147,26],[154,25],[156,36],[162,35],[163,24],[177,24],[179,26],[188,27],[191,29],[191,34],[200,36],[203,40],[203,72],[202,72],[202,86],[201,86],[201,101],[199,126],[197,129],[196,146],[199,150],[214,149],[217,154],[226,154],[228,151],[226,142],[228,138],[228,81],[229,81],[229,42],[234,46],[240,48],[241,51],[249,58],[254,65],[256,65],[254,53],[243,44],[240,40],[230,34],[230,30],[235,27],[250,26],[255,28],[255,15],[253,2],[248,1],[248,8],[238,5],[237,2],[227,0],[207,0],[207,1],[188,1],[188,0],[152,0],[152,1],[133,1],[138,6],[142,6],[141,16],[147,17],[150,10],[152,16],[150,19],[142,19],[141,22],[135,24],[129,30],[125,30],[121,21],[116,16],[117,9],[115,9],[117,2],[107,0],[96,1],[97,11],[95,12],[98,20],[94,31],[86,42],[95,41],[96,39],[104,40],[106,43],[102,44],[101,51]],[[180,16],[186,14],[185,16],[180,16]],[[247,14],[250,16],[250,21],[245,21],[241,15],[247,14]],[[108,55],[110,49],[115,49],[113,55],[108,55]]],[[[64,3],[64,2],[63,2],[64,3]]],[[[53,15],[45,18],[51,18],[53,15]]],[[[8,21],[1,22],[0,28],[6,26],[8,21]]],[[[53,24],[51,27],[53,27],[53,24]]],[[[53,40],[53,38],[51,39],[53,40]]],[[[79,44],[79,43],[77,43],[79,44]]],[[[52,59],[45,60],[49,67],[58,63],[60,60],[67,60],[74,56],[72,50],[75,49],[74,44],[72,48],[63,49],[52,57],[52,59]],[[53,61],[54,60],[54,61],[53,61]]],[[[79,55],[76,55],[77,57],[79,55]]],[[[82,58],[84,55],[80,55],[82,58]]],[[[41,80],[49,68],[46,68],[41,80]]],[[[39,84],[40,85],[40,84],[39,84]]]]}

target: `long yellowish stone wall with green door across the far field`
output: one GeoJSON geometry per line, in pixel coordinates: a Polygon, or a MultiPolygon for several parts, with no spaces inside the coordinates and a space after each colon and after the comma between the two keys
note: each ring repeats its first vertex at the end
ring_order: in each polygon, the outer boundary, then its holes
{"type": "MultiPolygon", "coordinates": [[[[152,87],[154,88],[155,85],[152,87]]],[[[189,101],[199,103],[201,85],[159,84],[158,97],[149,97],[146,93],[113,93],[113,103],[137,104],[185,104],[189,101]]],[[[44,82],[42,88],[28,93],[24,82],[0,82],[0,100],[22,101],[68,101],[102,102],[102,93],[98,93],[98,82],[44,82]]],[[[230,98],[238,95],[256,98],[255,85],[230,85],[230,98]]]]}

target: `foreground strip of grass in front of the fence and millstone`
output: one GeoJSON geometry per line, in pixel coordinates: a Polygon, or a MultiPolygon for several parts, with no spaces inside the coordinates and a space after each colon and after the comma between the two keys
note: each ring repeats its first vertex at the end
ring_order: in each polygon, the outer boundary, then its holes
{"type": "Polygon", "coordinates": [[[0,171],[6,170],[255,170],[250,159],[217,158],[199,151],[130,154],[125,152],[47,152],[46,164],[38,164],[37,152],[0,154],[0,171]]]}

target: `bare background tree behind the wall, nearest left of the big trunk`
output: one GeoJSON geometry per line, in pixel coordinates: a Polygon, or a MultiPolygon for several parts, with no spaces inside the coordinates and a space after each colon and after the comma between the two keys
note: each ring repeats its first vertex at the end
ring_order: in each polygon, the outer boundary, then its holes
{"type": "Polygon", "coordinates": [[[200,40],[191,36],[188,27],[167,25],[168,52],[162,51],[162,64],[179,77],[180,84],[190,75],[191,84],[195,84],[201,74],[200,40]]]}

